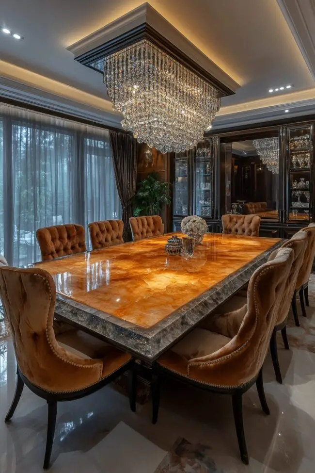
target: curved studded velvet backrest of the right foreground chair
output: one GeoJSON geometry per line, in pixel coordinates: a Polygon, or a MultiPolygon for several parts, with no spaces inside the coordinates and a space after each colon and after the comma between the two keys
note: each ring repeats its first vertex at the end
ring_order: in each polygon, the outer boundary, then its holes
{"type": "Polygon", "coordinates": [[[255,379],[268,351],[293,259],[291,248],[281,248],[273,261],[256,269],[248,286],[247,312],[236,335],[214,353],[190,359],[190,377],[207,382],[208,375],[210,384],[228,388],[255,379]]]}

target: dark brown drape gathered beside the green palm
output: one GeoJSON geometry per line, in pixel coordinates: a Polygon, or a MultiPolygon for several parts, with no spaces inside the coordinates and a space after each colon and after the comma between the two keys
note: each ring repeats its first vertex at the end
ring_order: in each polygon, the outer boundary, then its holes
{"type": "Polygon", "coordinates": [[[110,131],[118,195],[123,208],[124,241],[131,241],[129,217],[132,217],[132,202],[137,189],[137,141],[133,136],[119,131],[110,131]]]}

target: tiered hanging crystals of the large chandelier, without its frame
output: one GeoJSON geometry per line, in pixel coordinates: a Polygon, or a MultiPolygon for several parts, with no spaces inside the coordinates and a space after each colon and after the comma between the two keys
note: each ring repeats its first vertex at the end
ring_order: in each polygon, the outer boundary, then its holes
{"type": "Polygon", "coordinates": [[[107,56],[104,82],[123,128],[162,153],[196,146],[220,109],[214,86],[147,39],[107,56]]]}

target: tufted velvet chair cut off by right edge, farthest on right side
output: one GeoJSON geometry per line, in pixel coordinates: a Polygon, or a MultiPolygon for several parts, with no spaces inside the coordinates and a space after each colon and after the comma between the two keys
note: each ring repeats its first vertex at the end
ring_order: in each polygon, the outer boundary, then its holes
{"type": "Polygon", "coordinates": [[[312,272],[312,266],[315,257],[315,223],[310,223],[308,227],[302,228],[301,231],[306,231],[308,235],[307,247],[304,253],[304,260],[301,265],[299,276],[292,299],[292,310],[295,319],[295,325],[299,327],[299,315],[297,309],[297,294],[299,293],[299,301],[301,303],[302,315],[306,317],[304,306],[304,298],[306,306],[309,306],[308,300],[308,281],[312,272]]]}

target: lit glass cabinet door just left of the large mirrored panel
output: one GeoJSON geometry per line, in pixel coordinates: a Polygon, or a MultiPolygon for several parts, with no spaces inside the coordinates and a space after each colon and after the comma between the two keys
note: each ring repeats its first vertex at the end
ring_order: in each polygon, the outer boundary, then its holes
{"type": "Polygon", "coordinates": [[[196,148],[196,215],[213,217],[213,160],[208,142],[196,148]]]}

